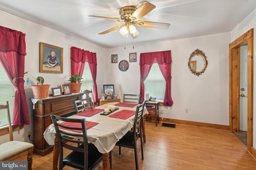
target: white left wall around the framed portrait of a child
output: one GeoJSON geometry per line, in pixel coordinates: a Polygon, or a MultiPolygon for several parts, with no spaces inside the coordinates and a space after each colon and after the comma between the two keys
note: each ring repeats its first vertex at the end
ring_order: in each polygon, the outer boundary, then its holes
{"type": "MultiPolygon", "coordinates": [[[[43,27],[36,23],[32,23],[27,20],[23,20],[6,12],[0,11],[0,25],[15,29],[26,34],[26,57],[25,57],[25,71],[29,71],[33,76],[42,76],[45,79],[44,84],[50,84],[50,88],[55,88],[58,85],[64,84],[65,80],[70,78],[70,48],[72,46],[80,49],[85,49],[90,52],[97,53],[97,79],[96,82],[99,87],[105,82],[105,49],[81,41],[74,37],[70,37],[58,31],[54,31],[47,27],[43,27]],[[39,72],[40,61],[40,42],[48,43],[63,48],[63,74],[56,73],[41,73],[39,72]]],[[[26,85],[25,85],[26,86],[26,85]]],[[[33,117],[32,117],[32,102],[30,98],[33,98],[32,90],[30,88],[25,89],[27,103],[30,115],[30,125],[24,125],[24,129],[14,132],[14,140],[28,141],[26,138],[26,131],[32,131],[33,134],[33,117]]],[[[98,93],[101,93],[101,88],[98,89],[98,93]]],[[[36,129],[35,129],[36,130],[36,129]]],[[[8,136],[0,136],[0,143],[8,141],[8,136]]],[[[29,141],[28,141],[29,142],[29,141]]]]}

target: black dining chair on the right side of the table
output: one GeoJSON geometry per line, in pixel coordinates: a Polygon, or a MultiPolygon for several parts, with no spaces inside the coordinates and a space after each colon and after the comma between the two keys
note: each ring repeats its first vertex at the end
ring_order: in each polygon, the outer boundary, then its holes
{"type": "Polygon", "coordinates": [[[118,142],[116,142],[116,145],[119,146],[119,154],[121,154],[121,147],[134,149],[136,170],[139,169],[138,151],[137,151],[138,138],[140,138],[141,157],[142,157],[142,160],[144,159],[143,145],[142,145],[142,127],[141,127],[144,107],[145,107],[145,101],[143,101],[142,104],[137,106],[132,130],[128,131],[121,139],[119,139],[118,142]]]}

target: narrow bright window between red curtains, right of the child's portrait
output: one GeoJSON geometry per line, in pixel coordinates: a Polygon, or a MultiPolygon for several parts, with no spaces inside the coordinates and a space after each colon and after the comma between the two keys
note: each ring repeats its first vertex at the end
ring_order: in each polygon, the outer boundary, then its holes
{"type": "MultiPolygon", "coordinates": [[[[88,65],[88,62],[85,63],[84,65],[84,72],[82,75],[82,85],[81,85],[81,90],[93,90],[93,82],[92,82],[92,74],[90,72],[90,68],[88,65]]],[[[91,96],[90,96],[91,97],[91,96]]]]}

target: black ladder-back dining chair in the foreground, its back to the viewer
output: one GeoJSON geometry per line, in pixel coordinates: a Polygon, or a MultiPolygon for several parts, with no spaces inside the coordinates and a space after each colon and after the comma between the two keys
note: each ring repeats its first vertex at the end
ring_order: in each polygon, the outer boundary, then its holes
{"type": "Polygon", "coordinates": [[[60,149],[59,170],[66,165],[81,170],[95,169],[102,162],[103,156],[95,145],[88,143],[85,119],[71,119],[57,115],[51,115],[51,118],[60,149]],[[62,122],[58,122],[58,120],[62,122]],[[63,124],[64,122],[65,124],[63,124]],[[82,140],[76,140],[76,138],[82,140]],[[65,158],[63,148],[72,150],[65,158]]]}

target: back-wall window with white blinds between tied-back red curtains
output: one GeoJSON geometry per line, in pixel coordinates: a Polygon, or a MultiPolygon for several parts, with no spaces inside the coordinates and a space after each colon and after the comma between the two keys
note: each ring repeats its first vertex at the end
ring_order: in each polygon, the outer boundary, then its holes
{"type": "Polygon", "coordinates": [[[145,94],[149,93],[149,96],[164,100],[166,82],[157,63],[152,64],[148,77],[144,81],[144,85],[145,94]]]}

